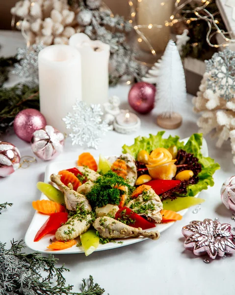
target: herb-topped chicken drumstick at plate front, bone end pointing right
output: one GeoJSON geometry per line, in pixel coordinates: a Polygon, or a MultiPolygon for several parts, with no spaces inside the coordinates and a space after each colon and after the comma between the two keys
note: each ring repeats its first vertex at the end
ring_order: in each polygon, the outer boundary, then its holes
{"type": "Polygon", "coordinates": [[[122,237],[137,237],[144,236],[152,239],[160,237],[159,232],[146,232],[141,228],[133,228],[111,217],[99,217],[93,222],[94,228],[104,238],[122,238],[122,237]]]}

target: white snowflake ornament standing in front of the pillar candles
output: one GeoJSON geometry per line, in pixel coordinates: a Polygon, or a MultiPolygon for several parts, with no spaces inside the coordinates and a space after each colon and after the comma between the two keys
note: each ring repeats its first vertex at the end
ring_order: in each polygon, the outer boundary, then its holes
{"type": "Polygon", "coordinates": [[[69,136],[72,138],[72,145],[83,146],[88,148],[98,148],[101,142],[101,135],[109,130],[106,121],[102,121],[101,106],[91,104],[88,106],[83,101],[77,101],[73,106],[73,113],[63,118],[67,129],[72,132],[69,136]]]}

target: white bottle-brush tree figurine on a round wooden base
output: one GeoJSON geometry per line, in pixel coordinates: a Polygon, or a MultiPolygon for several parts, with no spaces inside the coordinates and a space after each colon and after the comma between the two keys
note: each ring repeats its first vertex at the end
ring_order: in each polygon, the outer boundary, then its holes
{"type": "Polygon", "coordinates": [[[182,117],[176,113],[186,100],[183,64],[174,41],[170,40],[157,72],[157,124],[166,129],[178,128],[182,117]]]}

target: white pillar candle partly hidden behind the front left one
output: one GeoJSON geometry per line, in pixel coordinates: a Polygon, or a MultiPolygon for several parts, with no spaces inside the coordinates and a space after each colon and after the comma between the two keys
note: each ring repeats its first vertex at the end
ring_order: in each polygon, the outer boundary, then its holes
{"type": "Polygon", "coordinates": [[[86,34],[70,37],[69,44],[81,55],[82,100],[88,104],[103,105],[108,100],[108,60],[110,46],[92,41],[86,34]]]}

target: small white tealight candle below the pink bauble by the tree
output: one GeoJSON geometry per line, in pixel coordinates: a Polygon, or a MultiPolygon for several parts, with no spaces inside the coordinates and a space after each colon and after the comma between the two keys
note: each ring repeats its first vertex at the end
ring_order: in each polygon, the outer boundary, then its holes
{"type": "Polygon", "coordinates": [[[117,132],[129,134],[139,129],[140,119],[129,111],[122,111],[115,117],[113,127],[117,132]]]}

